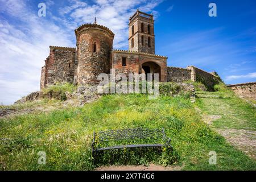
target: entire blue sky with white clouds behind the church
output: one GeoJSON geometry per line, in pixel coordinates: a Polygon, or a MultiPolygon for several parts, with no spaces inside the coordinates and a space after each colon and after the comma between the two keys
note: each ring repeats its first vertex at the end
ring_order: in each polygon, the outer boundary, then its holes
{"type": "Polygon", "coordinates": [[[127,24],[137,10],[155,15],[156,54],[168,65],[216,71],[226,84],[256,81],[256,1],[0,0],[0,103],[39,90],[49,46],[75,47],[84,23],[109,27],[114,48],[128,48],[127,24]],[[46,3],[46,17],[38,4],[46,3]],[[208,5],[217,5],[217,17],[208,5]]]}

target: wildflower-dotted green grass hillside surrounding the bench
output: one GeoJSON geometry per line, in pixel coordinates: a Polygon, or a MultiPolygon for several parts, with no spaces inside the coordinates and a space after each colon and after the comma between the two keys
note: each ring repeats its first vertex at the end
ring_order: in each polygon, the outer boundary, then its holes
{"type": "MultiPolygon", "coordinates": [[[[202,102],[203,103],[203,102],[202,102]]],[[[201,103],[201,105],[203,105],[201,103]]],[[[2,170],[90,170],[93,131],[136,127],[162,128],[172,139],[178,156],[174,164],[184,170],[255,170],[253,159],[243,154],[201,121],[186,97],[162,96],[148,100],[143,94],[108,95],[83,107],[68,107],[50,113],[24,114],[0,119],[0,169],[2,170]],[[46,152],[46,165],[39,165],[39,151],[46,152]],[[210,151],[217,164],[208,163],[210,151]]],[[[164,149],[163,149],[164,150],[164,149]]],[[[171,157],[172,157],[171,156],[171,157]]],[[[163,152],[158,158],[148,153],[141,158],[112,159],[114,164],[173,163],[163,152]]]]}

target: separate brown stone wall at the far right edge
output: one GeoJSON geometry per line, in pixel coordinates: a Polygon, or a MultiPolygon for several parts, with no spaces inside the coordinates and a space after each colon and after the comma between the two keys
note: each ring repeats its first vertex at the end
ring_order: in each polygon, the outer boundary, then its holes
{"type": "Polygon", "coordinates": [[[256,82],[247,82],[243,84],[227,85],[238,96],[242,98],[251,98],[256,100],[256,82]]]}

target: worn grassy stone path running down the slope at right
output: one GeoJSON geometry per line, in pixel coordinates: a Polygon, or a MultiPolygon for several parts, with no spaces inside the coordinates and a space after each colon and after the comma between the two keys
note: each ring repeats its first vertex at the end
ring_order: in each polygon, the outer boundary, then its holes
{"type": "Polygon", "coordinates": [[[200,108],[204,122],[226,140],[256,160],[256,129],[253,115],[221,98],[200,98],[200,108]]]}

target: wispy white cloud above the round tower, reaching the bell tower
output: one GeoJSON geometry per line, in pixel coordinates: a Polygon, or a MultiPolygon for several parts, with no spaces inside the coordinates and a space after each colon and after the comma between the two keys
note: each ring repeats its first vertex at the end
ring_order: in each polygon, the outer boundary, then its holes
{"type": "MultiPolygon", "coordinates": [[[[84,23],[93,23],[97,17],[97,23],[110,28],[115,34],[114,48],[128,46],[128,21],[139,10],[158,15],[154,8],[163,2],[162,0],[97,0],[93,5],[80,6],[69,12],[69,18],[79,26],[84,23]]],[[[68,6],[70,7],[70,6],[68,6]]],[[[64,7],[65,9],[65,7],[64,7]]]]}

